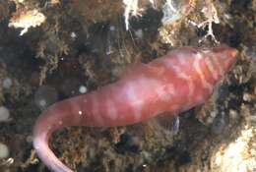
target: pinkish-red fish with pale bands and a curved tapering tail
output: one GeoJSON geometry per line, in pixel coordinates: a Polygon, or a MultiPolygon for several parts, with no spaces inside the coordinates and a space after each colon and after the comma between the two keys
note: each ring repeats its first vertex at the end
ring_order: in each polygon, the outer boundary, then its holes
{"type": "Polygon", "coordinates": [[[140,64],[114,84],[55,103],[33,129],[39,158],[55,172],[72,172],[48,147],[51,134],[66,126],[126,126],[162,112],[177,114],[203,103],[235,61],[229,47],[182,47],[140,64]]]}

